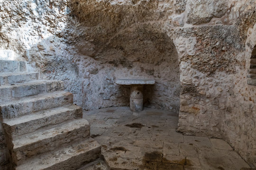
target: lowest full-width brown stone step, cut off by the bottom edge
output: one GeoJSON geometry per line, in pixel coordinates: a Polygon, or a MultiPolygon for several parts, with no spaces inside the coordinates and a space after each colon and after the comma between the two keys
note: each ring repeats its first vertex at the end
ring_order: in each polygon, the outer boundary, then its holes
{"type": "Polygon", "coordinates": [[[89,138],[57,151],[27,159],[15,170],[77,170],[84,164],[99,158],[101,145],[89,138]]]}

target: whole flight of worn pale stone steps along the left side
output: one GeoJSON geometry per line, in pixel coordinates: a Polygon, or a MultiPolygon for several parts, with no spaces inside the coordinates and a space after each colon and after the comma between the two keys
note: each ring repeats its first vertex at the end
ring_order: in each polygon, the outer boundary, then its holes
{"type": "Polygon", "coordinates": [[[77,170],[101,146],[63,82],[40,80],[24,61],[0,60],[0,113],[11,170],[77,170]]]}

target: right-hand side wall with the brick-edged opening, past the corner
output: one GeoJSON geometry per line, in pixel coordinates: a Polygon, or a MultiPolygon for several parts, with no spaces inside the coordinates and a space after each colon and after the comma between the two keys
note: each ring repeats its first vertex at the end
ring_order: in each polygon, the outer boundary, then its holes
{"type": "Polygon", "coordinates": [[[256,86],[247,85],[247,70],[256,45],[256,15],[248,13],[242,24],[249,24],[246,50],[240,53],[241,65],[233,77],[234,88],[230,90],[223,121],[223,138],[245,158],[250,166],[256,167],[256,86]],[[255,24],[253,26],[253,24],[255,24]]]}

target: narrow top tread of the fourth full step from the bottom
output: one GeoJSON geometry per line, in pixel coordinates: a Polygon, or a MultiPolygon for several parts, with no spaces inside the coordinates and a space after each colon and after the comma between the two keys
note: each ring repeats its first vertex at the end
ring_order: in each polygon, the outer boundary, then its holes
{"type": "Polygon", "coordinates": [[[0,103],[0,107],[10,105],[10,104],[18,104],[18,103],[23,103],[23,102],[33,102],[35,100],[43,100],[43,99],[47,99],[47,98],[54,98],[54,97],[59,97],[59,96],[62,96],[62,95],[68,95],[68,94],[72,94],[72,93],[66,92],[66,91],[56,91],[56,92],[51,92],[51,93],[40,93],[40,94],[33,95],[33,96],[22,97],[20,99],[12,100],[12,101],[9,101],[9,102],[2,102],[2,103],[0,103]]]}

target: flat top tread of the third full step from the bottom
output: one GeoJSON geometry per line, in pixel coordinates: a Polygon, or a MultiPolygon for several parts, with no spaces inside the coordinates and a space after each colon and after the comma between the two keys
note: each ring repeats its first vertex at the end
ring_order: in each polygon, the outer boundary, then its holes
{"type": "Polygon", "coordinates": [[[40,110],[35,113],[27,114],[24,116],[13,118],[13,119],[4,119],[3,123],[7,124],[9,126],[14,126],[17,124],[25,123],[27,121],[47,118],[49,116],[56,115],[56,114],[62,113],[64,111],[75,110],[75,109],[80,109],[80,107],[75,104],[69,104],[69,105],[64,105],[64,106],[60,106],[60,107],[53,108],[53,109],[40,110]]]}

